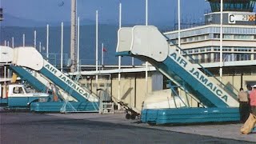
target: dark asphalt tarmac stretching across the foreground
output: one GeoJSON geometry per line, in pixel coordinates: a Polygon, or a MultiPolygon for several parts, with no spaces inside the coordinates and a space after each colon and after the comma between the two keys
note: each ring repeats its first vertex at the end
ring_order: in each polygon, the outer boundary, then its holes
{"type": "Polygon", "coordinates": [[[0,143],[255,143],[250,139],[235,140],[175,132],[172,129],[178,128],[176,126],[148,126],[138,120],[126,120],[123,116],[125,114],[0,112],[0,143]],[[170,130],[165,130],[166,127],[170,130]]]}

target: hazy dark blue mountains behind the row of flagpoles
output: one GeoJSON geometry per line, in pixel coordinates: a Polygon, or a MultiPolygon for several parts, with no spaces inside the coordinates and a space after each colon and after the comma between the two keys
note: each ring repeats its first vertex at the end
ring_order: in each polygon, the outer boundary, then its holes
{"type": "MultiPolygon", "coordinates": [[[[1,22],[0,42],[4,45],[4,41],[10,43],[14,37],[14,46],[22,46],[22,35],[25,34],[26,46],[34,46],[34,30],[37,32],[37,49],[39,43],[42,46],[42,53],[46,53],[46,24],[49,28],[49,53],[54,53],[53,57],[58,57],[61,52],[61,22],[37,22],[26,18],[17,18],[9,14],[5,14],[4,20],[1,22]]],[[[95,22],[90,19],[81,20],[80,26],[80,59],[82,64],[95,63],[95,22]]],[[[126,23],[123,26],[134,26],[126,23]]],[[[171,26],[159,24],[158,29],[171,29],[171,26]]],[[[63,51],[67,59],[70,57],[70,22],[64,22],[64,44],[63,51]]],[[[98,58],[101,62],[102,43],[106,52],[104,52],[104,64],[117,65],[118,58],[115,57],[117,46],[118,22],[113,23],[111,20],[99,22],[98,25],[98,58]]],[[[53,58],[54,59],[54,58],[53,58]]],[[[135,64],[141,64],[139,60],[135,60],[135,64]]],[[[122,64],[131,64],[130,58],[122,58],[122,64]]]]}

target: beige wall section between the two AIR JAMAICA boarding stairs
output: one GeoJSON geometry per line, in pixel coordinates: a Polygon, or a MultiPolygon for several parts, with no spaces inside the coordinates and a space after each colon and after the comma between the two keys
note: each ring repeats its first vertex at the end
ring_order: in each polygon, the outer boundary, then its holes
{"type": "MultiPolygon", "coordinates": [[[[118,100],[127,103],[129,106],[134,106],[138,110],[142,109],[142,102],[148,92],[152,91],[152,77],[149,74],[148,86],[146,87],[145,73],[127,73],[121,74],[120,94],[118,95],[118,74],[112,74],[111,78],[98,76],[98,86],[94,76],[83,78],[79,81],[83,86],[87,86],[94,93],[99,94],[99,90],[107,90],[112,96],[112,100],[118,105],[118,100]]],[[[155,83],[154,83],[155,84],[155,83]]]]}

